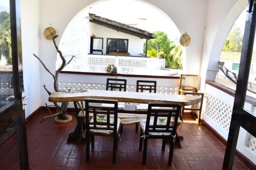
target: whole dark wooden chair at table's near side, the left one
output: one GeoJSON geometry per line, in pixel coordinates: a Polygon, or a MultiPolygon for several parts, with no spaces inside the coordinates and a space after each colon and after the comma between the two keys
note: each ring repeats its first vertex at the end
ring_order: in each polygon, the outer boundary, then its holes
{"type": "Polygon", "coordinates": [[[116,162],[116,150],[118,144],[118,128],[120,119],[117,118],[118,102],[114,100],[86,99],[86,161],[90,160],[90,138],[92,149],[94,148],[94,136],[113,137],[113,158],[116,162]],[[112,106],[102,107],[94,104],[110,104],[112,106]],[[90,113],[92,118],[90,119],[90,113]]]}

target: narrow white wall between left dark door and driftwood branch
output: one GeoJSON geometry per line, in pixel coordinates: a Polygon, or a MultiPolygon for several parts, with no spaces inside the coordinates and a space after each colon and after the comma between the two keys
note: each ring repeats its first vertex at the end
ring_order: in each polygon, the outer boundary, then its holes
{"type": "Polygon", "coordinates": [[[25,95],[29,96],[25,102],[26,117],[41,106],[40,67],[33,56],[39,55],[39,10],[39,0],[20,1],[23,78],[25,95]]]}

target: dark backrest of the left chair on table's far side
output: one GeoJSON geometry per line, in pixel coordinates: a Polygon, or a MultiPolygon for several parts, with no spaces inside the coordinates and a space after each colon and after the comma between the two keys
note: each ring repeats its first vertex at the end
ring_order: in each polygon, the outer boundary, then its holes
{"type": "Polygon", "coordinates": [[[119,91],[126,91],[126,80],[125,79],[106,79],[106,90],[113,91],[119,89],[119,91]]]}

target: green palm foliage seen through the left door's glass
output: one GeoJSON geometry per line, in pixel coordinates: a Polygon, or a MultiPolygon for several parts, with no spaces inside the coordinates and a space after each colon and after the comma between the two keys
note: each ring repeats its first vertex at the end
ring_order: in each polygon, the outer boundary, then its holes
{"type": "Polygon", "coordinates": [[[6,11],[0,13],[0,58],[2,56],[8,64],[12,62],[10,14],[6,11]]]}

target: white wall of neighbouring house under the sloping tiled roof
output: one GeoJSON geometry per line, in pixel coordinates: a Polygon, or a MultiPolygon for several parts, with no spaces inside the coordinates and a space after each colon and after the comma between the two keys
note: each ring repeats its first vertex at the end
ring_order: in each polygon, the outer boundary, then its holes
{"type": "Polygon", "coordinates": [[[128,52],[132,56],[139,56],[140,53],[143,54],[144,39],[130,35],[130,34],[118,32],[116,30],[97,25],[96,23],[90,22],[90,25],[91,25],[91,35],[94,34],[96,35],[96,37],[103,38],[103,54],[106,54],[106,38],[129,39],[128,52]]]}

